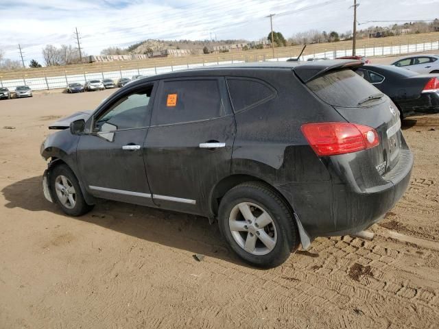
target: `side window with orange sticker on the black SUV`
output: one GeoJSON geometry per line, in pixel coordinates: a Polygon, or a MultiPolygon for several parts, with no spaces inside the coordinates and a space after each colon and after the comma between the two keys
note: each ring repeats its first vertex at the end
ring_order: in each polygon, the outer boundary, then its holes
{"type": "Polygon", "coordinates": [[[213,119],[225,113],[217,79],[165,81],[161,90],[153,125],[213,119]]]}

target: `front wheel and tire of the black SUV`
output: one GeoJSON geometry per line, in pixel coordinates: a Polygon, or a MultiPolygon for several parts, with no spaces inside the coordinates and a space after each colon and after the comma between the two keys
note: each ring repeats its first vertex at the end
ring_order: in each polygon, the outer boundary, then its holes
{"type": "Polygon", "coordinates": [[[85,202],[78,179],[66,164],[60,164],[51,170],[50,189],[54,201],[67,215],[81,216],[93,209],[93,205],[85,202]],[[64,191],[59,184],[64,186],[64,191]]]}

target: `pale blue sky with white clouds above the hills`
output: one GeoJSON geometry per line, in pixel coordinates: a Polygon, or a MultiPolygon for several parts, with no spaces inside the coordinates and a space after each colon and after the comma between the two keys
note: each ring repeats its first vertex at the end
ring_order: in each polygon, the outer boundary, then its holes
{"type": "MultiPolygon", "coordinates": [[[[438,0],[359,3],[359,22],[439,16],[438,0]]],[[[32,58],[43,62],[45,45],[75,45],[75,27],[89,55],[147,38],[209,39],[212,33],[217,39],[259,40],[270,30],[265,18],[270,13],[279,14],[274,16],[274,29],[285,37],[308,29],[346,32],[352,29],[352,4],[353,0],[0,0],[0,49],[6,58],[19,60],[20,43],[26,64],[32,58]],[[302,10],[319,3],[322,5],[302,10]],[[296,12],[281,15],[291,11],[296,12]]]]}

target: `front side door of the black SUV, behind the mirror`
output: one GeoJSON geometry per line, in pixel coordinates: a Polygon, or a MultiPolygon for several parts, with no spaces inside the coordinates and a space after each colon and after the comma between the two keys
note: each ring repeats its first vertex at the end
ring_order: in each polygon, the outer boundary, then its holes
{"type": "Polygon", "coordinates": [[[154,84],[126,90],[93,117],[80,137],[80,174],[95,197],[154,206],[143,162],[154,84]]]}

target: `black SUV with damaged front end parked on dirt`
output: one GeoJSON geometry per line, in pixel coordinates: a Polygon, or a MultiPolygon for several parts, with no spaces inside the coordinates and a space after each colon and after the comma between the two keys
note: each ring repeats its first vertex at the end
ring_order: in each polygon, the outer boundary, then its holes
{"type": "Polygon", "coordinates": [[[51,125],[62,130],[41,147],[45,197],[73,216],[104,198],[217,218],[260,267],[316,236],[360,232],[401,198],[413,166],[398,110],[352,70],[361,65],[241,64],[132,82],[51,125]]]}

